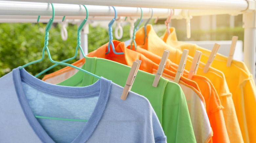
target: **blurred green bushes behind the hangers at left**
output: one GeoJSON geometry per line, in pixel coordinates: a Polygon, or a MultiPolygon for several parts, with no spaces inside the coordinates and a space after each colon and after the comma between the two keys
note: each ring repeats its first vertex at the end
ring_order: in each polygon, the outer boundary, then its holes
{"type": "MultiPolygon", "coordinates": [[[[49,31],[48,48],[51,57],[55,61],[62,61],[75,56],[77,26],[70,24],[67,27],[68,39],[63,41],[60,36],[59,24],[54,24],[49,31]]],[[[12,69],[22,66],[31,61],[40,59],[44,46],[46,24],[0,24],[0,77],[12,69]]],[[[100,26],[89,26],[88,51],[91,52],[108,42],[108,31],[100,26]]],[[[32,64],[25,69],[32,75],[43,71],[53,65],[48,59],[47,52],[44,60],[32,64]]],[[[79,59],[78,56],[67,63],[73,63],[79,59]]],[[[45,74],[57,71],[65,66],[58,65],[45,74]]],[[[42,78],[45,74],[39,76],[42,78]]]]}

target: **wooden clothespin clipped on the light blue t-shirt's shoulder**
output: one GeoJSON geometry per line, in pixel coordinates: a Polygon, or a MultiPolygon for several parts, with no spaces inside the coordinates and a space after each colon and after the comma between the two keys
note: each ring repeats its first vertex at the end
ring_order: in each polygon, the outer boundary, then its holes
{"type": "Polygon", "coordinates": [[[128,78],[126,80],[126,83],[125,83],[125,86],[123,88],[123,92],[122,92],[122,95],[121,95],[120,99],[126,100],[128,92],[131,90],[133,82],[134,82],[135,77],[136,77],[136,74],[139,70],[140,63],[141,63],[141,60],[138,60],[138,59],[133,62],[132,68],[129,72],[129,75],[128,75],[128,78]]]}

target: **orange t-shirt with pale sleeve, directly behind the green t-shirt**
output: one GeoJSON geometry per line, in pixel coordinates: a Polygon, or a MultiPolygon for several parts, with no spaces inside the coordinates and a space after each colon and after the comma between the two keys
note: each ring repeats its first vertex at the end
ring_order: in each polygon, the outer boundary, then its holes
{"type": "MultiPolygon", "coordinates": [[[[139,59],[141,60],[141,65],[139,68],[140,70],[153,73],[153,69],[155,70],[158,69],[158,65],[156,63],[152,62],[141,53],[125,48],[123,42],[113,41],[113,43],[115,46],[115,50],[118,52],[123,52],[124,55],[116,55],[112,50],[109,52],[109,54],[106,55],[105,52],[107,50],[107,44],[105,44],[100,48],[98,48],[97,50],[89,53],[87,56],[106,58],[106,59],[117,61],[119,63],[123,63],[128,66],[132,66],[133,61],[136,61],[136,59],[139,59]]],[[[174,72],[169,71],[167,69],[164,69],[163,72],[167,73],[167,75],[172,74],[175,76],[174,72]]],[[[164,75],[162,75],[162,77],[164,77],[164,75]]],[[[172,80],[170,77],[168,77],[167,79],[174,81],[174,77],[172,78],[173,78],[172,80]]],[[[190,87],[187,84],[182,85],[181,83],[179,85],[181,86],[182,91],[186,93],[185,97],[186,97],[187,103],[191,105],[191,106],[188,106],[189,107],[188,110],[190,112],[191,121],[193,121],[192,126],[194,129],[194,133],[197,138],[197,141],[205,142],[209,138],[209,136],[211,136],[212,134],[211,134],[211,127],[209,124],[209,119],[207,118],[207,114],[205,111],[205,102],[204,102],[203,96],[202,94],[200,94],[200,92],[196,91],[195,88],[190,87]],[[198,114],[200,115],[198,116],[198,114]],[[202,126],[202,125],[205,125],[205,126],[202,126]]]]}

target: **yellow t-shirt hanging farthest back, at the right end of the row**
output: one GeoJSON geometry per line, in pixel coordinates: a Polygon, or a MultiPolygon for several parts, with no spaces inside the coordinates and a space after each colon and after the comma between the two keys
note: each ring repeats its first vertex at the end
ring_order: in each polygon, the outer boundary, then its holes
{"type": "MultiPolygon", "coordinates": [[[[167,37],[164,35],[163,39],[166,39],[166,43],[176,49],[183,50],[188,49],[189,55],[194,55],[195,50],[202,52],[201,60],[206,63],[210,55],[210,50],[199,47],[195,44],[185,43],[177,40],[177,36],[174,28],[170,28],[171,34],[167,37]]],[[[223,71],[227,85],[230,92],[232,93],[233,103],[237,115],[237,119],[242,131],[244,142],[256,142],[256,123],[254,119],[256,118],[256,87],[254,80],[249,70],[242,61],[232,60],[231,66],[226,66],[227,57],[221,54],[217,54],[212,62],[211,67],[223,71]]],[[[233,107],[231,100],[226,98],[226,107],[233,107]]],[[[224,103],[222,103],[224,106],[224,103]]],[[[226,108],[224,106],[224,108],[226,108]]],[[[234,110],[234,109],[233,109],[234,110]]],[[[233,112],[232,110],[232,112],[233,112]]],[[[233,117],[232,120],[226,121],[227,130],[231,142],[241,142],[241,134],[238,131],[237,120],[235,119],[235,114],[231,114],[231,110],[225,117],[233,117]]],[[[225,114],[225,112],[224,112],[225,114]]],[[[226,118],[225,118],[226,119],[226,118]]]]}

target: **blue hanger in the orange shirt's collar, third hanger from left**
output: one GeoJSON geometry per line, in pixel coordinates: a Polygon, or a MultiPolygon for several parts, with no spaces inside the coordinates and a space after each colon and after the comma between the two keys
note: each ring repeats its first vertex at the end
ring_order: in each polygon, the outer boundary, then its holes
{"type": "Polygon", "coordinates": [[[115,22],[116,18],[117,18],[117,10],[115,7],[112,6],[112,8],[114,8],[114,11],[115,11],[115,17],[110,21],[110,23],[108,24],[108,36],[109,36],[109,42],[108,42],[108,51],[105,53],[105,54],[108,54],[110,52],[110,44],[111,44],[111,47],[112,47],[112,50],[115,54],[117,55],[122,55],[124,54],[123,52],[116,52],[115,51],[115,47],[114,47],[114,43],[113,43],[113,34],[112,34],[112,25],[113,23],[115,22]]]}

